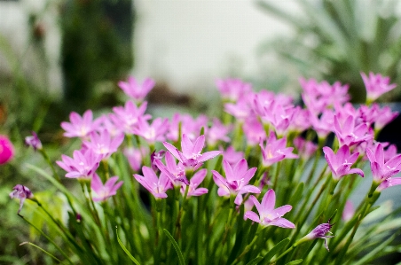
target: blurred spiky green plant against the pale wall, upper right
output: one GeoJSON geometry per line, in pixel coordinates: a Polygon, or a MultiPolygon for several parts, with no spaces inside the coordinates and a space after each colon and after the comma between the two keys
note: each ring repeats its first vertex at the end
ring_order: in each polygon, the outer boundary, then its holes
{"type": "MultiPolygon", "coordinates": [[[[296,0],[301,12],[272,0],[256,0],[264,12],[295,29],[294,37],[263,43],[259,53],[272,50],[297,66],[305,77],[350,84],[353,102],[364,102],[360,72],[381,73],[401,83],[401,18],[397,0],[296,0]]],[[[398,88],[383,101],[401,100],[398,88]]]]}

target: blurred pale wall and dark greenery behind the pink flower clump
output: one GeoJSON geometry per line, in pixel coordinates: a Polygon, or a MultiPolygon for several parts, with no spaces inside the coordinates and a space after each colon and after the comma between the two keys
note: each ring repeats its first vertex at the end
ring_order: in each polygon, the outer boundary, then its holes
{"type": "MultiPolygon", "coordinates": [[[[0,165],[0,211],[10,216],[0,219],[0,263],[43,264],[37,252],[18,246],[27,231],[18,225],[15,208],[6,207],[16,183],[46,188],[23,167],[44,165],[23,146],[30,131],[38,133],[51,159],[59,160],[67,148],[59,123],[71,111],[100,113],[121,105],[117,82],[130,74],[156,81],[148,97],[156,115],[161,109],[216,113],[215,81],[225,77],[295,98],[300,76],[341,81],[350,84],[353,103],[364,102],[360,72],[388,75],[401,84],[400,5],[398,0],[0,0],[0,135],[9,136],[16,150],[10,163],[0,165]],[[10,238],[9,230],[16,237],[10,238]]],[[[400,108],[400,86],[380,100],[400,108]]]]}

